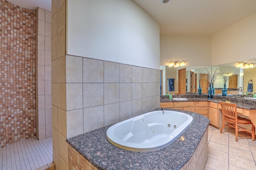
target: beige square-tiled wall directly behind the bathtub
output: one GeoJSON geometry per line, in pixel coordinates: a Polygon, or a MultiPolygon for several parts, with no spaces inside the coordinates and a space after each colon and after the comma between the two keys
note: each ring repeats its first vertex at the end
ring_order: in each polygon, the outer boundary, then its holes
{"type": "Polygon", "coordinates": [[[159,70],[67,55],[67,138],[160,107],[159,81],[159,70]]]}

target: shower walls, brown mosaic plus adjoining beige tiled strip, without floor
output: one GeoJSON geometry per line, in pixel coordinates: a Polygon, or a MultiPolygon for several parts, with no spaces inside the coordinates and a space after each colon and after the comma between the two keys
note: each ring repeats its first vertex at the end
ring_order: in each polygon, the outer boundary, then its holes
{"type": "Polygon", "coordinates": [[[51,12],[0,2],[0,148],[52,136],[51,12]]]}

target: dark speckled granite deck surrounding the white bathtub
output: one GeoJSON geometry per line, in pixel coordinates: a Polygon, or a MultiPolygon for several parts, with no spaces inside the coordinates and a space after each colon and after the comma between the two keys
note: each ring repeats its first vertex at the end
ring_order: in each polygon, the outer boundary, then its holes
{"type": "MultiPolygon", "coordinates": [[[[164,108],[164,110],[174,109],[164,108]]],[[[182,110],[180,112],[193,117],[191,125],[182,133],[182,138],[179,137],[167,147],[159,150],[134,152],[112,145],[106,139],[106,131],[111,125],[66,141],[100,170],[176,170],[191,158],[210,123],[207,117],[198,113],[182,110]]]]}

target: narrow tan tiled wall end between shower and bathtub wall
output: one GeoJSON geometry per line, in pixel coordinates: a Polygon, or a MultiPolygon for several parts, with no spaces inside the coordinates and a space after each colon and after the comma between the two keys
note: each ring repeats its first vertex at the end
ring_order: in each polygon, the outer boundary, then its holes
{"type": "Polygon", "coordinates": [[[56,170],[68,170],[66,1],[52,0],[52,145],[56,170]]]}

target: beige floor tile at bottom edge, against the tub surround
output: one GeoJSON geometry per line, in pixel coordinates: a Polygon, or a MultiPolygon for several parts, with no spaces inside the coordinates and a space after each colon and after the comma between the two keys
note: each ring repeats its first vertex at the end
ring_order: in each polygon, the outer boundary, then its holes
{"type": "Polygon", "coordinates": [[[228,162],[208,156],[206,168],[210,168],[211,170],[228,170],[228,162]]]}

